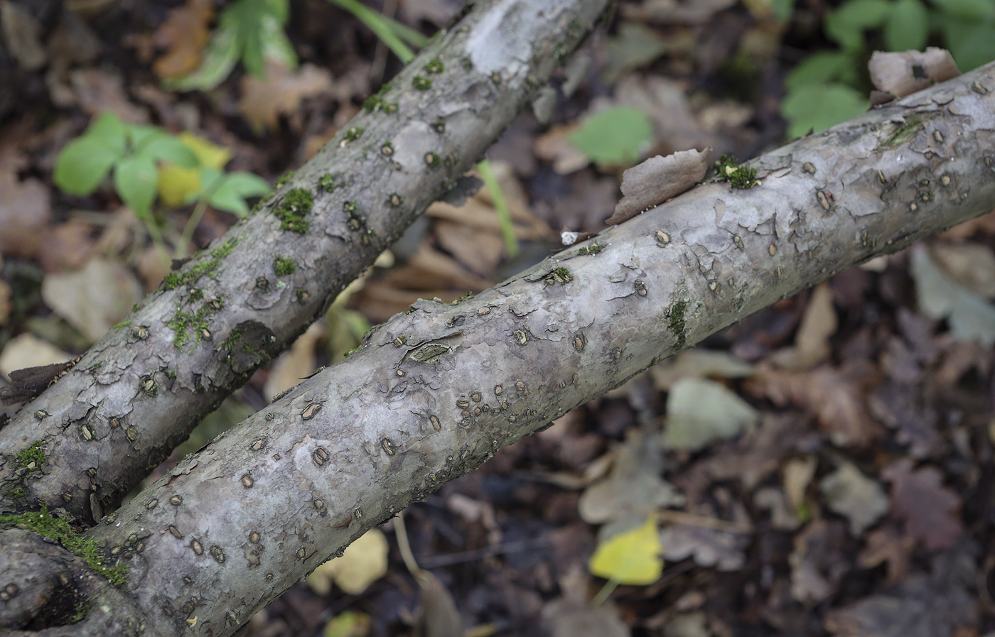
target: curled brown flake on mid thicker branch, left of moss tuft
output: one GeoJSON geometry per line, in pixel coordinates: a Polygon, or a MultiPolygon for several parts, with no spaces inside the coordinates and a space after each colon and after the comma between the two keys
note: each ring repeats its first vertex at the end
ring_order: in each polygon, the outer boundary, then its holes
{"type": "Polygon", "coordinates": [[[622,173],[622,199],[615,214],[605,221],[616,226],[644,210],[677,197],[704,179],[705,161],[711,148],[682,150],[664,157],[657,155],[622,173]]]}

